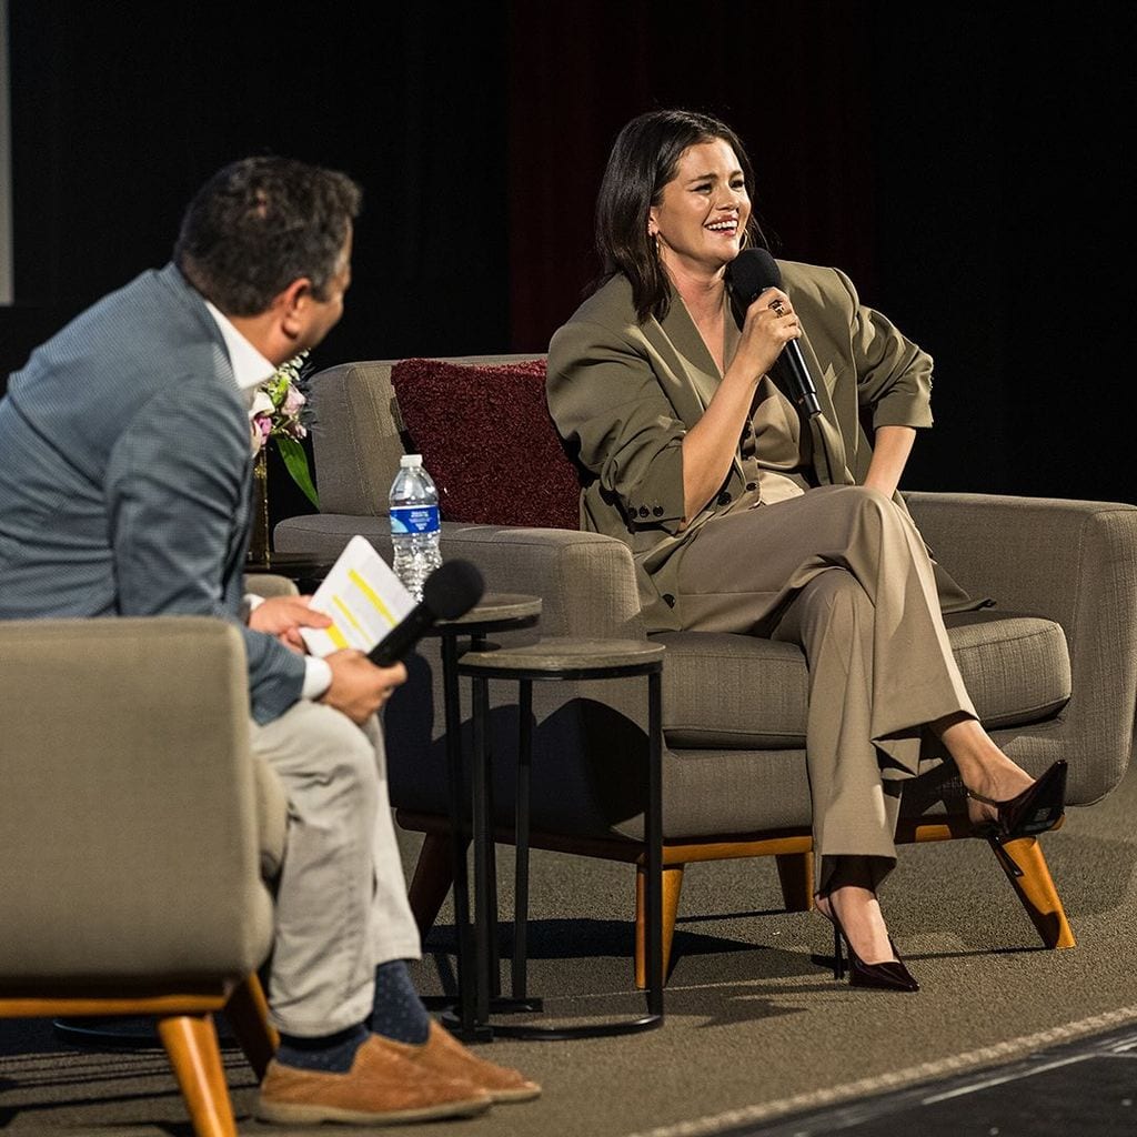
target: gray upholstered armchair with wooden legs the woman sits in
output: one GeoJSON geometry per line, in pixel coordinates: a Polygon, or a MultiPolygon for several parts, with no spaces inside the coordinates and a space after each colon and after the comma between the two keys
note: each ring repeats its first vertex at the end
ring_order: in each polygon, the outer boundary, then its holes
{"type": "MultiPolygon", "coordinates": [[[[492,371],[485,376],[492,382],[492,371]]],[[[404,449],[424,448],[404,429],[391,363],[332,368],[316,376],[313,390],[324,512],[282,522],[277,548],[332,556],[359,532],[389,555],[387,491],[404,449]]],[[[1097,802],[1121,778],[1134,738],[1137,507],[953,493],[908,493],[907,503],[953,575],[997,600],[995,609],[949,622],[985,723],[1028,771],[1039,773],[1064,757],[1071,805],[1097,802]]],[[[539,595],[541,634],[645,634],[631,556],[620,541],[564,529],[443,523],[442,547],[447,557],[478,564],[491,590],[539,595]]],[[[706,632],[657,638],[667,646],[666,952],[687,863],[773,855],[787,906],[811,903],[806,669],[802,653],[787,644],[706,632]]],[[[639,865],[639,700],[626,684],[540,686],[534,845],[639,865]]],[[[392,802],[404,825],[428,835],[412,887],[423,926],[433,921],[448,883],[440,707],[438,657],[428,648],[387,717],[392,802]]],[[[492,720],[496,821],[499,839],[509,840],[516,707],[496,703],[492,720]]],[[[902,840],[970,836],[953,773],[929,750],[924,772],[905,790],[902,840]]],[[[999,860],[1044,943],[1071,946],[1038,841],[1013,843],[999,860]]]]}

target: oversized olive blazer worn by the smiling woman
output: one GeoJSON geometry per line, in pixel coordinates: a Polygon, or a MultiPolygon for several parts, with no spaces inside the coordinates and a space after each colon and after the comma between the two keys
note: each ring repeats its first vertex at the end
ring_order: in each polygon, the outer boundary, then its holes
{"type": "MultiPolygon", "coordinates": [[[[872,457],[863,421],[873,429],[931,425],[931,357],[862,305],[844,273],[779,265],[782,289],[802,321],[798,342],[821,405],[808,426],[811,481],[861,483],[872,457]]],[[[735,305],[736,321],[727,321],[728,359],[741,315],[735,305]]],[[[753,488],[736,451],[719,493],[682,526],[682,439],[721,379],[679,296],[672,293],[662,321],[649,316],[641,324],[622,274],[589,297],[549,345],[549,412],[583,467],[581,529],[630,546],[653,631],[680,628],[672,611],[675,554],[753,488]]],[[[958,586],[938,575],[945,607],[966,606],[958,586]]]]}

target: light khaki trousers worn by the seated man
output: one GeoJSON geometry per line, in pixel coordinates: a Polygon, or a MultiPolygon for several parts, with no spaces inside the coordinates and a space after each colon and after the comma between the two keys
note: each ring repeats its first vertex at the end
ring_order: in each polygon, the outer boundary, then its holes
{"type": "Polygon", "coordinates": [[[379,723],[360,729],[301,700],[252,725],[252,749],[284,786],[288,844],[276,896],[268,998],[276,1026],[301,1037],[363,1022],[375,968],[418,958],[387,792],[379,723]]]}

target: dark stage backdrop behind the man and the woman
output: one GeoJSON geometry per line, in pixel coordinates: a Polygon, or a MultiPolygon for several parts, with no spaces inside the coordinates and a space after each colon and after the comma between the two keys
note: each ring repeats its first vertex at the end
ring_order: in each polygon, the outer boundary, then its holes
{"type": "MultiPolygon", "coordinates": [[[[596,271],[615,132],[682,105],[746,140],[781,256],[840,266],[936,357],[937,429],[906,485],[1137,500],[1135,19],[1001,7],[9,0],[17,306],[0,309],[0,373],[161,264],[192,190],[257,151],[365,186],[347,314],[317,365],[542,350],[596,271]]],[[[274,507],[304,505],[285,488],[274,507]]]]}

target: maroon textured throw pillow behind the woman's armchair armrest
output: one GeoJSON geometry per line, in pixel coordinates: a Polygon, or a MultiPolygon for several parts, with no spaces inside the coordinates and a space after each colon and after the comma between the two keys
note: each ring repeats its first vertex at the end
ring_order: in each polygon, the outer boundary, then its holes
{"type": "Polygon", "coordinates": [[[545,402],[543,359],[402,359],[391,383],[446,521],[579,528],[580,482],[545,402]]]}

